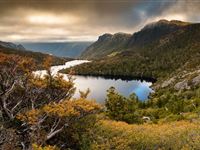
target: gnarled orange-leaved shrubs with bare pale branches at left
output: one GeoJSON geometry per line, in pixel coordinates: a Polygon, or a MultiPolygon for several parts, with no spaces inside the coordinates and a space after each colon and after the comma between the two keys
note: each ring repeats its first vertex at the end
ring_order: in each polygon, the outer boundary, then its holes
{"type": "Polygon", "coordinates": [[[76,149],[78,143],[71,134],[74,122],[97,113],[101,106],[84,97],[72,99],[73,79],[51,76],[49,59],[44,63],[48,75],[41,79],[32,75],[30,59],[1,57],[0,149],[32,149],[49,144],[76,149]]]}

